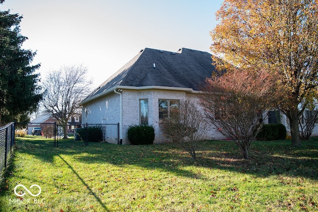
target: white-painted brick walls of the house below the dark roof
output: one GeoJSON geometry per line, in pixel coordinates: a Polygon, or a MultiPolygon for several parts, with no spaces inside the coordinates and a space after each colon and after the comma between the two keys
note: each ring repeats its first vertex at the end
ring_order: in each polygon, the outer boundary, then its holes
{"type": "MultiPolygon", "coordinates": [[[[148,100],[148,124],[155,128],[154,143],[162,143],[167,139],[159,130],[159,100],[192,99],[198,102],[195,95],[188,95],[183,91],[167,90],[127,90],[122,92],[122,144],[130,144],[127,139],[127,130],[130,125],[140,124],[140,100],[148,100]]],[[[198,104],[199,106],[199,104],[198,104]]],[[[120,122],[120,95],[110,94],[104,98],[83,105],[82,123],[118,123],[120,122]]],[[[206,139],[224,138],[212,128],[206,139]]]]}

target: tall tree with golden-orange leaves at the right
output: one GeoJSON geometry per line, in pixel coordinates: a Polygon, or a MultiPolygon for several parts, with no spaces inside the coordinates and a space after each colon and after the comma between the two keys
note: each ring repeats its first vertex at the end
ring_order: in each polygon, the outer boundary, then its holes
{"type": "Polygon", "coordinates": [[[316,0],[225,0],[216,15],[212,52],[239,68],[275,73],[280,87],[272,96],[299,146],[298,119],[318,87],[316,0]]]}

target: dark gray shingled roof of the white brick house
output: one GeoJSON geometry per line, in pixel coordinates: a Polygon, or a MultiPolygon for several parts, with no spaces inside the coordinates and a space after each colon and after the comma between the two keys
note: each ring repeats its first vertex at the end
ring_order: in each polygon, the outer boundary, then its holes
{"type": "Polygon", "coordinates": [[[164,86],[198,91],[205,79],[215,71],[211,56],[207,52],[185,48],[176,53],[146,48],[101,84],[86,100],[115,86],[164,86]]]}

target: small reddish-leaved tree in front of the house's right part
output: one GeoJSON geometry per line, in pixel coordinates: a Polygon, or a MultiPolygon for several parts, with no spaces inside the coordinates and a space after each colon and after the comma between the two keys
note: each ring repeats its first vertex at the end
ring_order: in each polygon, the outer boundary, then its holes
{"type": "Polygon", "coordinates": [[[234,141],[243,158],[248,159],[248,151],[255,136],[261,129],[261,119],[265,117],[272,100],[269,97],[274,87],[273,78],[265,71],[229,71],[221,77],[206,80],[201,104],[212,127],[228,139],[234,141]]]}

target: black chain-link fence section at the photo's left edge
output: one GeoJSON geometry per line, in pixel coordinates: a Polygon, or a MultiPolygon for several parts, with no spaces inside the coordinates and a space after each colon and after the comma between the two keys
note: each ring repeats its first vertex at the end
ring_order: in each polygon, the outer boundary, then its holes
{"type": "Polygon", "coordinates": [[[8,159],[12,152],[12,146],[14,144],[14,131],[14,122],[0,127],[0,174],[7,166],[8,159]]]}

